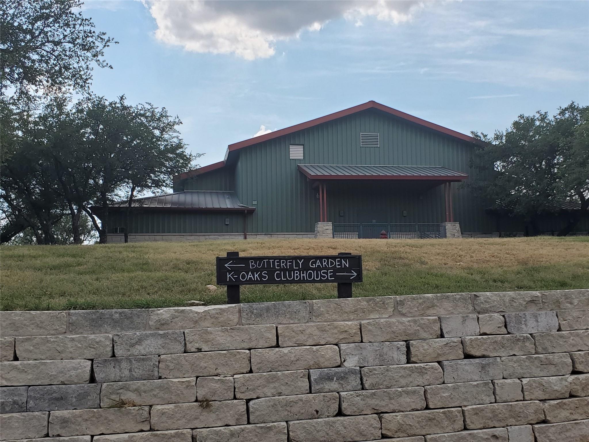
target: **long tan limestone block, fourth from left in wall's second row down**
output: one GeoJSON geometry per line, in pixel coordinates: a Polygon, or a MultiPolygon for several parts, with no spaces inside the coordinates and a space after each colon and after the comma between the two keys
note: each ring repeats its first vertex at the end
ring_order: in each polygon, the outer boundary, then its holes
{"type": "Polygon", "coordinates": [[[276,345],[276,326],[273,324],[197,328],[186,330],[184,334],[186,351],[239,350],[276,345]]]}

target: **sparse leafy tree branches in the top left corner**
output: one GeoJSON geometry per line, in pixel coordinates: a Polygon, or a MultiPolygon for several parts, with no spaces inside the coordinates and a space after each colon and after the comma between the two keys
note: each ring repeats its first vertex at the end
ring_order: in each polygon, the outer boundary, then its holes
{"type": "Polygon", "coordinates": [[[67,90],[88,91],[92,68],[112,68],[104,50],[114,39],[82,16],[81,0],[1,0],[0,94],[19,101],[67,90]]]}

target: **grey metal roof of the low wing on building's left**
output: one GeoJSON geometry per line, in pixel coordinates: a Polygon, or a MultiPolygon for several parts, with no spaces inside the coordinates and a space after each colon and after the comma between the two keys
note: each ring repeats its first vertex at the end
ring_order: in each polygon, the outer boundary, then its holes
{"type": "MultiPolygon", "coordinates": [[[[110,207],[127,207],[127,201],[110,204],[110,207]]],[[[190,210],[223,210],[225,212],[249,211],[255,207],[245,206],[239,202],[235,192],[225,190],[187,190],[186,192],[166,193],[163,195],[146,196],[133,200],[132,207],[150,209],[190,209],[190,210]]]]}

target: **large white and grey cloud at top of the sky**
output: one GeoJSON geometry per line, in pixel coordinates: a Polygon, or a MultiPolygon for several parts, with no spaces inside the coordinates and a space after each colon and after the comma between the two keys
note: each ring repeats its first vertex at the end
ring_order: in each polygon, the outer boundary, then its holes
{"type": "Polygon", "coordinates": [[[316,1],[165,1],[143,0],[157,24],[155,37],[191,52],[235,54],[246,60],[269,58],[276,42],[319,31],[344,17],[362,25],[362,18],[398,24],[423,8],[418,0],[316,1]]]}

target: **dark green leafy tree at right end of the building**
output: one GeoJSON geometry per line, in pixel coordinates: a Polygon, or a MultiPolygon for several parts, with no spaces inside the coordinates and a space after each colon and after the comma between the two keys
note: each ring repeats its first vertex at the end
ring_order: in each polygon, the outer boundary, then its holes
{"type": "Polygon", "coordinates": [[[564,204],[578,204],[559,235],[574,229],[589,206],[589,107],[571,103],[554,117],[520,115],[506,131],[472,133],[482,142],[472,166],[481,174],[469,184],[492,209],[524,216],[537,235],[536,220],[564,204]]]}

